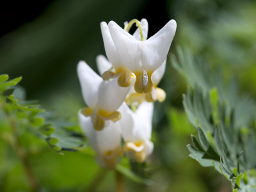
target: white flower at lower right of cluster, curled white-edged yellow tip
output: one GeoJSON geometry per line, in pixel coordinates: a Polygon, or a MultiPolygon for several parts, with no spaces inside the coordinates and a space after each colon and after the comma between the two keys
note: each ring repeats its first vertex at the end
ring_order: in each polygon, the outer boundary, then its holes
{"type": "Polygon", "coordinates": [[[125,141],[125,154],[140,163],[147,159],[154,148],[150,141],[153,108],[152,102],[143,102],[136,113],[132,112],[125,103],[120,107],[123,117],[119,123],[125,141]]]}

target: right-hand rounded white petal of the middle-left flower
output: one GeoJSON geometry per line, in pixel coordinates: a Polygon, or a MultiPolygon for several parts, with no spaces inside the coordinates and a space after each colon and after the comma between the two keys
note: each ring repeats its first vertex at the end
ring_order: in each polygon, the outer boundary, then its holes
{"type": "MultiPolygon", "coordinates": [[[[131,86],[127,88],[120,87],[117,84],[117,80],[117,78],[109,79],[108,81],[104,81],[100,84],[99,99],[97,102],[98,108],[104,109],[108,112],[113,112],[121,106],[122,102],[124,102],[131,86]]],[[[132,81],[134,81],[134,78],[132,78],[132,81]]]]}

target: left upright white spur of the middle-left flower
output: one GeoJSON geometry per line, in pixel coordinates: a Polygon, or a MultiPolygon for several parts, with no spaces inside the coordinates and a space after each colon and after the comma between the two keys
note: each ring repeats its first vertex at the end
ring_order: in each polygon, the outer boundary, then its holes
{"type": "Polygon", "coordinates": [[[84,102],[88,107],[93,108],[97,102],[97,92],[102,78],[96,74],[84,61],[79,61],[77,74],[81,84],[84,102]]]}

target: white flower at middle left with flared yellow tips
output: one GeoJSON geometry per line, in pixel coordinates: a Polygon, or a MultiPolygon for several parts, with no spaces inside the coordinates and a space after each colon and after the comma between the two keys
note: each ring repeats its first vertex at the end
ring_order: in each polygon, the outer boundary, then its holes
{"type": "Polygon", "coordinates": [[[116,109],[124,102],[130,87],[118,86],[116,79],[103,81],[84,61],[78,63],[77,74],[88,106],[81,113],[91,116],[94,129],[102,130],[106,120],[115,122],[120,119],[120,113],[116,109]]]}

